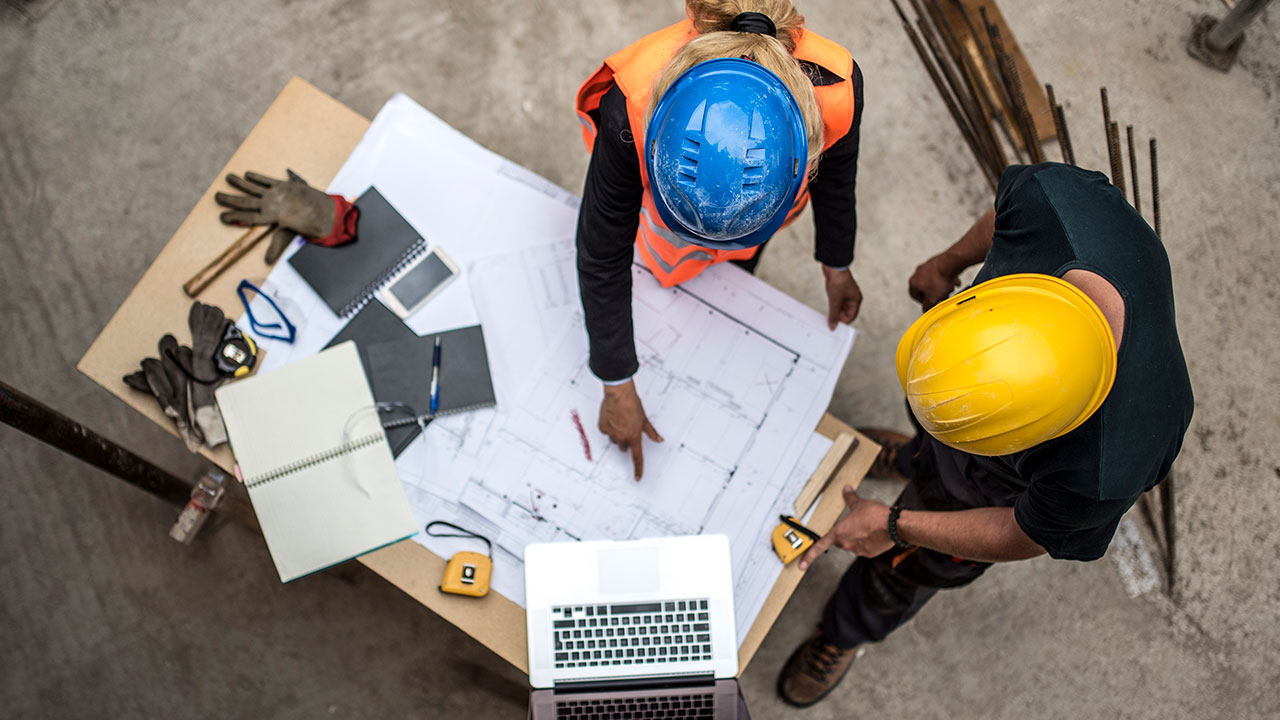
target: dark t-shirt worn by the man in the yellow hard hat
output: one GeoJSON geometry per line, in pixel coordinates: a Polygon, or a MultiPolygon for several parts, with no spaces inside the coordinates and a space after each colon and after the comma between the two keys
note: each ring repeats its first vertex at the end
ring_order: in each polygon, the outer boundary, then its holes
{"type": "Polygon", "coordinates": [[[1015,165],[996,192],[996,233],[974,283],[1014,273],[1102,275],[1125,306],[1116,378],[1106,401],[1070,433],[998,457],[970,456],[1023,488],[1019,527],[1052,557],[1102,557],[1116,525],[1165,479],[1194,398],[1174,318],[1165,249],[1101,173],[1057,163],[1015,165]]]}

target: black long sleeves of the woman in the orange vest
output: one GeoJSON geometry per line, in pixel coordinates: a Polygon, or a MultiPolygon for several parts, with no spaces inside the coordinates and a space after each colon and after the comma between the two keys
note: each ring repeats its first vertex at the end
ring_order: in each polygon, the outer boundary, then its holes
{"type": "MultiPolygon", "coordinates": [[[[806,68],[814,85],[854,83],[854,119],[849,132],[823,152],[809,181],[813,201],[814,259],[832,268],[854,261],[858,209],[858,141],[863,117],[863,76],[838,78],[824,68],[806,68]]],[[[577,217],[577,278],[590,342],[590,368],[604,382],[623,380],[640,368],[631,322],[631,259],[644,184],[627,119],[626,97],[613,86],[593,114],[595,147],[586,170],[577,217]]]]}

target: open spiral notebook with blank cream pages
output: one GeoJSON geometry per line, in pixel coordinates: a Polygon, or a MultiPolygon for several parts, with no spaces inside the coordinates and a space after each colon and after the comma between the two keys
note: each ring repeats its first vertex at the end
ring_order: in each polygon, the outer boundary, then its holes
{"type": "Polygon", "coordinates": [[[356,343],[215,395],[282,582],[416,532],[356,343]]]}

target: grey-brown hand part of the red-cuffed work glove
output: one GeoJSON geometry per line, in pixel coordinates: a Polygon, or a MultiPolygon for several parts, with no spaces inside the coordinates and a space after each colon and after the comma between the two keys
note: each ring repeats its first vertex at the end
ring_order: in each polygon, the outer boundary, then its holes
{"type": "Polygon", "coordinates": [[[219,218],[228,225],[276,225],[266,249],[268,264],[275,263],[294,234],[325,237],[333,231],[333,197],[311,187],[293,170],[289,179],[274,179],[253,172],[243,178],[227,176],[227,182],[244,195],[219,192],[214,200],[230,208],[219,218]]]}

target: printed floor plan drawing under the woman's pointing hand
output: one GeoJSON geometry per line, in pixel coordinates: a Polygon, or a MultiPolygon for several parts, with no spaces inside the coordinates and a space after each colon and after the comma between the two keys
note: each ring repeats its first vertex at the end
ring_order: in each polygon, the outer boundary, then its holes
{"type": "Polygon", "coordinates": [[[517,602],[530,542],[728,534],[745,634],[781,570],[767,534],[829,447],[813,428],[852,332],[828,331],[737,268],[662,288],[634,266],[636,386],[666,438],[646,441],[637,482],[630,454],[596,429],[602,387],[588,369],[572,245],[470,272],[498,407],[436,420],[397,462],[420,519],[490,533],[504,551],[493,587],[517,602]]]}

